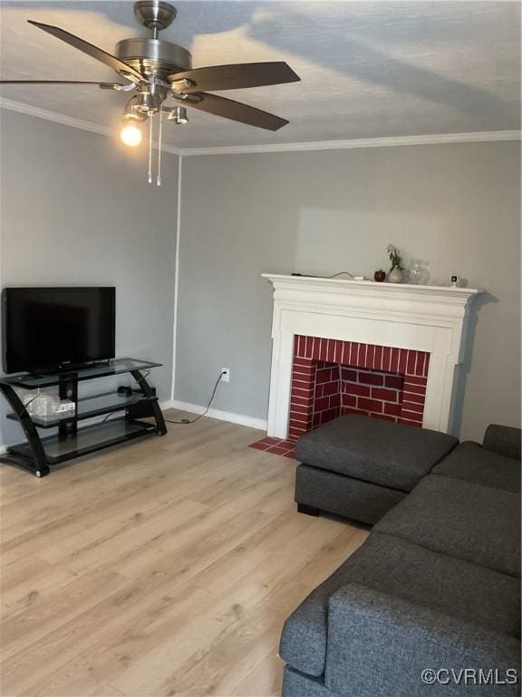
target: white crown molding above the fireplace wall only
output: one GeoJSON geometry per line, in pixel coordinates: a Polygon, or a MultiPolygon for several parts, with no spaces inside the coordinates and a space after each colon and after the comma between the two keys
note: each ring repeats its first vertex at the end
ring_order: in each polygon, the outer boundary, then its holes
{"type": "Polygon", "coordinates": [[[460,142],[519,141],[520,131],[484,131],[478,133],[433,133],[400,135],[388,138],[357,138],[350,141],[278,142],[266,145],[230,145],[218,148],[179,148],[179,154],[235,155],[255,152],[305,152],[312,150],[355,150],[358,148],[389,148],[399,145],[440,145],[460,142]]]}

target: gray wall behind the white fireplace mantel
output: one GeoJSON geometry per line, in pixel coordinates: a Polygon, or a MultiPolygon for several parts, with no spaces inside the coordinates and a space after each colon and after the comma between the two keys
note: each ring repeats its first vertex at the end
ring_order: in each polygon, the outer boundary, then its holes
{"type": "Polygon", "coordinates": [[[519,144],[183,159],[175,398],[266,418],[271,290],[262,271],[371,276],[385,247],[488,290],[466,367],[461,437],[520,417],[519,144]]]}

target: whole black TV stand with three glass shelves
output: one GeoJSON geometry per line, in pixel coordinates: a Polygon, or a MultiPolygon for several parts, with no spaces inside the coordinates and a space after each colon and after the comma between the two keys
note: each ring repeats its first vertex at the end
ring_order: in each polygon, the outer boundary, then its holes
{"type": "Polygon", "coordinates": [[[25,443],[7,447],[5,455],[0,456],[0,462],[24,466],[34,472],[35,476],[42,477],[50,473],[53,465],[89,455],[105,447],[153,433],[164,436],[167,433],[165,420],[158,398],[147,382],[150,370],[160,365],[136,358],[115,358],[102,364],[66,371],[43,375],[24,373],[0,378],[0,392],[13,409],[7,414],[7,418],[18,421],[27,439],[25,443]],[[123,373],[130,373],[137,383],[137,389],[132,395],[106,391],[79,397],[78,385],[83,380],[109,378],[123,373]],[[15,388],[37,390],[51,387],[58,387],[60,398],[74,402],[73,414],[56,414],[45,418],[31,416],[15,391],[15,388]],[[140,418],[133,415],[133,407],[138,404],[140,418]],[[125,412],[123,417],[111,418],[111,414],[122,411],[125,412]],[[150,420],[141,420],[143,414],[150,417],[150,420]],[[82,420],[102,415],[105,415],[102,421],[79,427],[82,420]],[[50,437],[40,437],[39,429],[48,428],[57,429],[57,432],[50,437]]]}

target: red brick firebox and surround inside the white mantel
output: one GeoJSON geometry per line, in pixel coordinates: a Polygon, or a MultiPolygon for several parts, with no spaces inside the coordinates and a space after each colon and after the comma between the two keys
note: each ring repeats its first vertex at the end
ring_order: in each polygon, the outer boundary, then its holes
{"type": "Polygon", "coordinates": [[[295,336],[289,438],[343,414],[422,426],[430,354],[295,336]]]}

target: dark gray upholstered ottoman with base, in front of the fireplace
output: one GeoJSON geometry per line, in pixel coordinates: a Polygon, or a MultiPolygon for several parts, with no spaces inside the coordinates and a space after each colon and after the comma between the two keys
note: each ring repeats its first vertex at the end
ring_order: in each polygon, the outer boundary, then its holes
{"type": "Polygon", "coordinates": [[[297,441],[297,508],[373,525],[458,442],[428,428],[358,415],[336,418],[297,441]]]}

